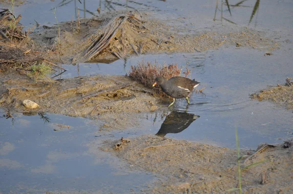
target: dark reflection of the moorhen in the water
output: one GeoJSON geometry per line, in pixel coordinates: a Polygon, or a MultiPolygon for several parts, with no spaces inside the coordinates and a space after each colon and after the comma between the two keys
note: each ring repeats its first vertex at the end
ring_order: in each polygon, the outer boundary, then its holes
{"type": "Polygon", "coordinates": [[[188,128],[188,126],[200,116],[186,113],[172,111],[166,116],[156,136],[164,137],[167,134],[177,134],[188,128]]]}

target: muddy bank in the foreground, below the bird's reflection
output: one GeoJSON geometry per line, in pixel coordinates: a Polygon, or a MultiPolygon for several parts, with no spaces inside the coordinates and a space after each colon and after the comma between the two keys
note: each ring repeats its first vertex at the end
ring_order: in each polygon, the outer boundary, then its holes
{"type": "MultiPolygon", "coordinates": [[[[241,160],[242,168],[268,159],[242,171],[243,193],[293,192],[293,148],[287,147],[267,146],[252,157],[249,155],[255,151],[241,150],[240,155],[245,156],[241,160]]],[[[144,191],[147,193],[225,193],[237,187],[237,152],[233,149],[157,136],[140,136],[122,143],[108,140],[102,149],[123,158],[136,169],[162,175],[162,182],[144,191]]]]}

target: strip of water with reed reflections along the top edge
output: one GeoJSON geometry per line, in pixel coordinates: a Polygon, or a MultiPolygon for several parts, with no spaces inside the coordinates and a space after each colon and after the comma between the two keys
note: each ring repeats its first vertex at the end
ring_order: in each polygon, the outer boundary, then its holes
{"type": "MultiPolygon", "coordinates": [[[[21,6],[15,7],[16,15],[21,14],[21,23],[32,27],[36,21],[40,25],[53,25],[56,18],[59,22],[77,19],[78,10],[80,18],[99,16],[105,12],[117,10],[139,9],[152,15],[158,15],[162,19],[178,19],[177,25],[188,25],[196,30],[213,26],[212,19],[222,20],[225,23],[236,23],[238,25],[250,25],[274,31],[290,31],[293,29],[293,2],[291,0],[267,0],[259,1],[257,9],[255,4],[258,0],[246,0],[236,5],[240,0],[229,0],[228,6],[221,3],[215,14],[216,0],[186,0],[184,3],[178,0],[26,0],[21,6]],[[100,6],[100,13],[97,11],[100,6]],[[53,9],[56,8],[55,15],[53,9]],[[253,12],[255,10],[255,12],[253,12]],[[251,15],[253,17],[251,18],[251,15]],[[215,17],[214,17],[215,16],[215,17]],[[228,20],[225,20],[228,19],[228,20]],[[250,22],[251,20],[251,22],[250,22]]],[[[8,6],[5,6],[8,7],[8,6]]]]}

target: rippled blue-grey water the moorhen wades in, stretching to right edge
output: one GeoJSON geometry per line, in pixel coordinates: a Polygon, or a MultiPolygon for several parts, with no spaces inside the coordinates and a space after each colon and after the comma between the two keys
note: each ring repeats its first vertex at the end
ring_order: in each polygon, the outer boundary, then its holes
{"type": "Polygon", "coordinates": [[[127,59],[125,65],[117,60],[110,64],[114,68],[103,63],[80,63],[78,72],[76,66],[63,65],[67,72],[62,78],[93,75],[93,72],[125,75],[131,65],[142,60],[182,66],[189,62],[191,78],[201,82],[198,89],[205,87],[205,95],[193,94],[188,106],[185,100],[178,100],[170,111],[187,111],[200,118],[183,132],[167,136],[234,148],[237,126],[241,147],[255,148],[260,142],[281,143],[292,135],[292,111],[271,102],[251,100],[249,96],[270,85],[284,83],[284,78],[292,75],[290,58],[284,57],[290,52],[275,51],[266,57],[263,51],[228,46],[206,53],[146,55],[127,59]]]}

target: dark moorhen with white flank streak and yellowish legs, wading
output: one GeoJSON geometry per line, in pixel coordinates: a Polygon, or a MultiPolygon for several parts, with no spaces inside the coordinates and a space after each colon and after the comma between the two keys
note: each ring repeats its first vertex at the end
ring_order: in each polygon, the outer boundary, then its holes
{"type": "Polygon", "coordinates": [[[169,106],[174,104],[175,98],[183,97],[187,99],[189,104],[189,96],[191,91],[200,84],[200,82],[195,81],[195,79],[191,80],[184,77],[173,77],[168,80],[163,77],[157,77],[155,80],[156,82],[152,86],[154,87],[158,84],[162,88],[163,92],[173,98],[173,102],[169,106]]]}

